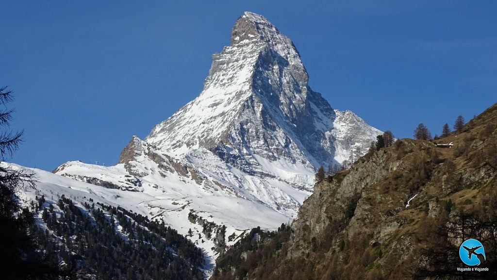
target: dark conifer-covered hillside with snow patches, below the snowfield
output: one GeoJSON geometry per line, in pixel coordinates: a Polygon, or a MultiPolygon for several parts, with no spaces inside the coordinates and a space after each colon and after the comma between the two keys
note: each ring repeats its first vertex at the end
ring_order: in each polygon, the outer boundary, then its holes
{"type": "Polygon", "coordinates": [[[93,203],[37,197],[38,245],[77,279],[200,280],[203,254],[164,222],[93,203]]]}

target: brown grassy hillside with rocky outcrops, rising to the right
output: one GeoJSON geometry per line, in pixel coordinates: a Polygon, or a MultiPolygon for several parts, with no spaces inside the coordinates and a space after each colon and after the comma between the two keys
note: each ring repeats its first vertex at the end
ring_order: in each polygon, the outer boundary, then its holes
{"type": "Polygon", "coordinates": [[[212,279],[497,279],[496,127],[497,104],[459,134],[365,155],[317,183],[291,227],[228,250],[212,279]],[[457,271],[467,238],[489,272],[457,271]]]}

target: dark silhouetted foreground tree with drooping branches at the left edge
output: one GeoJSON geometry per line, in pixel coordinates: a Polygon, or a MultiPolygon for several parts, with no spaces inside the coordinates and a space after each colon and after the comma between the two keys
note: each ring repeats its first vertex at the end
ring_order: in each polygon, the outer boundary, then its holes
{"type": "MultiPolygon", "coordinates": [[[[11,91],[0,88],[0,104],[3,107],[12,100],[11,91]]],[[[13,110],[0,110],[0,126],[8,126],[13,110]]],[[[21,132],[0,133],[0,161],[10,158],[21,142],[21,132]]],[[[33,187],[33,175],[0,165],[0,248],[4,256],[0,272],[5,279],[56,278],[57,267],[42,261],[33,241],[34,219],[27,209],[21,209],[16,191],[20,187],[33,187]]]]}

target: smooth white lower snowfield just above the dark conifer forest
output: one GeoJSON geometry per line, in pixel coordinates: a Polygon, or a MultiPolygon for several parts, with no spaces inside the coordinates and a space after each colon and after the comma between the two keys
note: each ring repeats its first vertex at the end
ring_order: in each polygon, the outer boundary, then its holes
{"type": "MultiPolygon", "coordinates": [[[[5,164],[5,163],[2,163],[5,164]]],[[[84,165],[74,162],[73,167],[84,165]]],[[[27,174],[34,174],[37,183],[35,189],[26,187],[19,191],[19,196],[24,203],[34,200],[35,196],[44,195],[47,201],[56,203],[62,195],[71,198],[75,203],[83,205],[90,198],[94,203],[100,202],[105,205],[121,206],[126,210],[137,214],[149,216],[151,219],[162,219],[167,225],[176,229],[178,233],[187,236],[193,243],[205,252],[205,273],[210,276],[214,266],[217,246],[231,246],[242,236],[248,228],[260,226],[262,228],[275,229],[282,221],[288,221],[288,217],[274,211],[264,204],[237,196],[222,196],[202,194],[182,196],[174,193],[166,193],[160,189],[148,191],[129,191],[95,186],[78,180],[53,174],[39,169],[28,169],[18,165],[10,164],[13,169],[21,169],[27,174]],[[192,222],[188,218],[193,213],[216,225],[225,225],[223,236],[205,231],[203,224],[192,222]],[[241,218],[243,217],[243,218],[241,218]],[[191,234],[190,234],[191,232],[191,234]]],[[[98,167],[91,166],[95,173],[100,174],[98,167]]],[[[80,166],[80,169],[84,169],[80,166]]],[[[114,167],[118,170],[119,167],[114,167]]],[[[181,186],[185,186],[184,184],[181,186]]],[[[197,219],[198,220],[198,219],[197,219]]]]}

